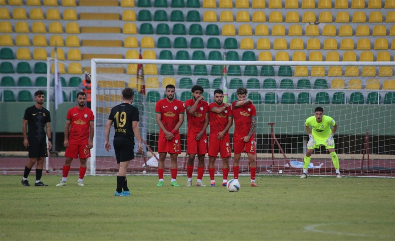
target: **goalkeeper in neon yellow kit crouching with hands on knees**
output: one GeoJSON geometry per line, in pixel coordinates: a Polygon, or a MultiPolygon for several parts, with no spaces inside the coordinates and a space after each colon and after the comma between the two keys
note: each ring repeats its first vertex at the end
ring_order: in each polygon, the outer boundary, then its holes
{"type": "Polygon", "coordinates": [[[307,142],[307,152],[303,160],[303,174],[300,178],[307,177],[307,168],[310,163],[311,154],[314,148],[320,148],[320,145],[325,146],[325,149],[329,151],[332,157],[333,166],[335,166],[336,177],[340,178],[339,158],[336,155],[335,141],[333,140],[333,135],[335,135],[337,129],[335,120],[329,116],[324,116],[324,109],[322,107],[317,107],[314,110],[314,116],[307,118],[305,127],[310,139],[307,142]],[[332,131],[330,126],[333,126],[332,131]]]}

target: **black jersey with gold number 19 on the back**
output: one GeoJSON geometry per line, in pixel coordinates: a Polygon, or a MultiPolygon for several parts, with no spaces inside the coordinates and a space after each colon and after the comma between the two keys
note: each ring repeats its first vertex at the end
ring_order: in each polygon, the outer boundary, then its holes
{"type": "Polygon", "coordinates": [[[133,121],[139,121],[139,109],[128,103],[122,103],[114,106],[108,120],[114,122],[114,137],[127,136],[134,140],[133,121]]]}

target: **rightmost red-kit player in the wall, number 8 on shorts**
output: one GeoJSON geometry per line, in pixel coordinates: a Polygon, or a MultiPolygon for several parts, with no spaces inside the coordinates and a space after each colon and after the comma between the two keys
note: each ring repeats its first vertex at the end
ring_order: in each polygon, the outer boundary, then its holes
{"type": "Polygon", "coordinates": [[[251,171],[251,187],[258,187],[255,183],[255,140],[254,131],[256,127],[256,109],[250,99],[247,99],[247,89],[237,88],[237,101],[232,103],[233,119],[235,120],[235,133],[233,134],[233,150],[235,153],[233,163],[233,174],[239,179],[239,162],[241,153],[248,155],[251,171]]]}

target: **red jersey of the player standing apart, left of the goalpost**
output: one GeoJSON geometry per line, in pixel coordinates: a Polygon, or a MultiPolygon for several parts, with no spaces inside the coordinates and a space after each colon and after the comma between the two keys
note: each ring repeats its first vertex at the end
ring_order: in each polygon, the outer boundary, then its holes
{"type": "Polygon", "coordinates": [[[88,107],[80,110],[77,106],[67,112],[66,120],[70,121],[69,142],[86,145],[89,139],[89,122],[94,121],[92,110],[88,107]]]}

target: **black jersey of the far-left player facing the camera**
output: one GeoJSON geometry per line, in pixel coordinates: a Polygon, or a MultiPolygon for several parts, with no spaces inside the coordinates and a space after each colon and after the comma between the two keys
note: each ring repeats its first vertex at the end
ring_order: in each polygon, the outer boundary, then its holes
{"type": "Polygon", "coordinates": [[[46,108],[37,108],[36,105],[26,108],[24,120],[28,121],[28,139],[42,142],[45,140],[45,124],[51,122],[51,116],[46,108]]]}

